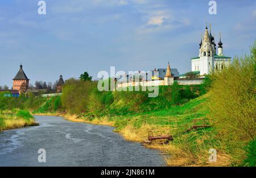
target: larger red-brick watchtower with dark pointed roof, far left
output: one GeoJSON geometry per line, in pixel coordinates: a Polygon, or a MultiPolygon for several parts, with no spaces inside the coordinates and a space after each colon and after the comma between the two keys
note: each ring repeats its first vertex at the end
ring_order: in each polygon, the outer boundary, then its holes
{"type": "Polygon", "coordinates": [[[22,64],[19,66],[19,72],[13,78],[13,90],[18,90],[19,94],[25,93],[28,89],[29,79],[22,69],[22,64]]]}

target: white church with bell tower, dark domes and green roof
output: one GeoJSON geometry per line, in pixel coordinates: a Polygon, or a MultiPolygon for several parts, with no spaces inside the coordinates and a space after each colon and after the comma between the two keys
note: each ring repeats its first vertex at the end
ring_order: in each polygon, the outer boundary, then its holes
{"type": "Polygon", "coordinates": [[[217,53],[214,37],[211,30],[209,34],[208,27],[205,28],[204,38],[201,39],[199,45],[199,56],[191,58],[192,72],[200,72],[200,76],[203,76],[204,74],[209,74],[214,69],[223,69],[224,66],[230,64],[231,57],[223,55],[221,37],[217,53]]]}

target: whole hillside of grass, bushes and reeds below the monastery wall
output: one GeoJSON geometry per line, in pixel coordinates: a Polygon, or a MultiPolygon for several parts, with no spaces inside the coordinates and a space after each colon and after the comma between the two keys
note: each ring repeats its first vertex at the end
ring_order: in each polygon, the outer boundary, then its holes
{"type": "Polygon", "coordinates": [[[230,67],[206,76],[204,84],[159,86],[156,98],[148,98],[148,92],[99,92],[97,82],[71,78],[59,97],[0,98],[0,107],[115,126],[126,139],[139,142],[150,130],[174,135],[173,142],[150,146],[171,155],[168,165],[255,166],[255,56],[256,42],[250,55],[235,57],[230,67]],[[184,132],[194,119],[208,119],[212,127],[184,132]],[[209,162],[212,148],[217,162],[209,162]]]}

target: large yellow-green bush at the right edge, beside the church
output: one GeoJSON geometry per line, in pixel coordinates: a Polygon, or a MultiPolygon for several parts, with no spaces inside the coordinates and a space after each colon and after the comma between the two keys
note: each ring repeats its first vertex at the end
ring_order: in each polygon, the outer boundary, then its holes
{"type": "Polygon", "coordinates": [[[210,114],[235,164],[243,160],[245,144],[255,138],[255,57],[256,41],[250,56],[235,58],[212,74],[210,114]]]}

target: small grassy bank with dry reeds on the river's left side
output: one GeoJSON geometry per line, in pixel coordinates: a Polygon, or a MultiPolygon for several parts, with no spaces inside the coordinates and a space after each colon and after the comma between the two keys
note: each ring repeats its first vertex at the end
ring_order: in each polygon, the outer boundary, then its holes
{"type": "Polygon", "coordinates": [[[0,111],[0,131],[18,129],[27,126],[38,126],[34,117],[24,110],[1,110],[0,111]]]}

